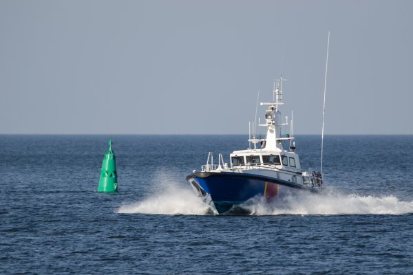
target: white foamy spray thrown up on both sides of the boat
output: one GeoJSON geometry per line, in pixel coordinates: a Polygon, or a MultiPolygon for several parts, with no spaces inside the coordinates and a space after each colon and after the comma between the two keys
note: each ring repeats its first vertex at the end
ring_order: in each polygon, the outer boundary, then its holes
{"type": "MultiPolygon", "coordinates": [[[[152,185],[150,195],[136,203],[120,206],[116,212],[127,214],[195,214],[209,213],[209,206],[202,202],[189,184],[171,179],[165,173],[156,177],[159,184],[152,185]]],[[[413,213],[413,201],[397,197],[342,194],[329,188],[321,194],[303,192],[268,203],[262,197],[246,201],[242,208],[254,215],[277,214],[407,214],[413,213]]]]}

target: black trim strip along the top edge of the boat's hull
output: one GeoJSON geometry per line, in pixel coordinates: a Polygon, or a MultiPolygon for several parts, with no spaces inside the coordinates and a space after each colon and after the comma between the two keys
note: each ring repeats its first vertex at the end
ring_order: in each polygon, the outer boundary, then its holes
{"type": "Polygon", "coordinates": [[[248,178],[248,179],[257,179],[262,181],[270,181],[275,184],[284,185],[290,188],[295,189],[304,189],[308,190],[309,192],[320,192],[321,188],[315,188],[312,186],[303,186],[301,184],[293,184],[290,181],[284,181],[282,179],[276,179],[274,177],[266,177],[262,175],[253,175],[253,174],[246,174],[246,173],[233,173],[233,172],[195,172],[191,175],[187,176],[187,181],[193,179],[195,177],[206,178],[206,177],[239,177],[239,178],[248,178]]]}

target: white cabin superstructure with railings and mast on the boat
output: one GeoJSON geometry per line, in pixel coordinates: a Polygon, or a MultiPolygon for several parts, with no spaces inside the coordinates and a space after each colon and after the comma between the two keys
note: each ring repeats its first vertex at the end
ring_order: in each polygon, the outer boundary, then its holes
{"type": "MultiPolygon", "coordinates": [[[[262,102],[262,106],[268,107],[265,111],[266,127],[265,138],[255,136],[255,125],[248,139],[249,146],[246,150],[233,151],[230,155],[230,164],[224,164],[222,155],[218,156],[218,165],[213,164],[213,155],[209,153],[207,164],[202,166],[202,172],[231,172],[248,173],[289,181],[291,184],[304,186],[322,185],[321,173],[315,173],[311,168],[308,171],[301,170],[299,155],[295,153],[293,137],[293,121],[288,123],[288,117],[282,120],[279,106],[282,101],[282,77],[274,83],[273,102],[262,102]],[[290,126],[290,133],[281,135],[282,129],[290,126]],[[288,143],[288,148],[284,148],[288,143]]],[[[251,127],[250,127],[251,128],[251,127]]]]}

